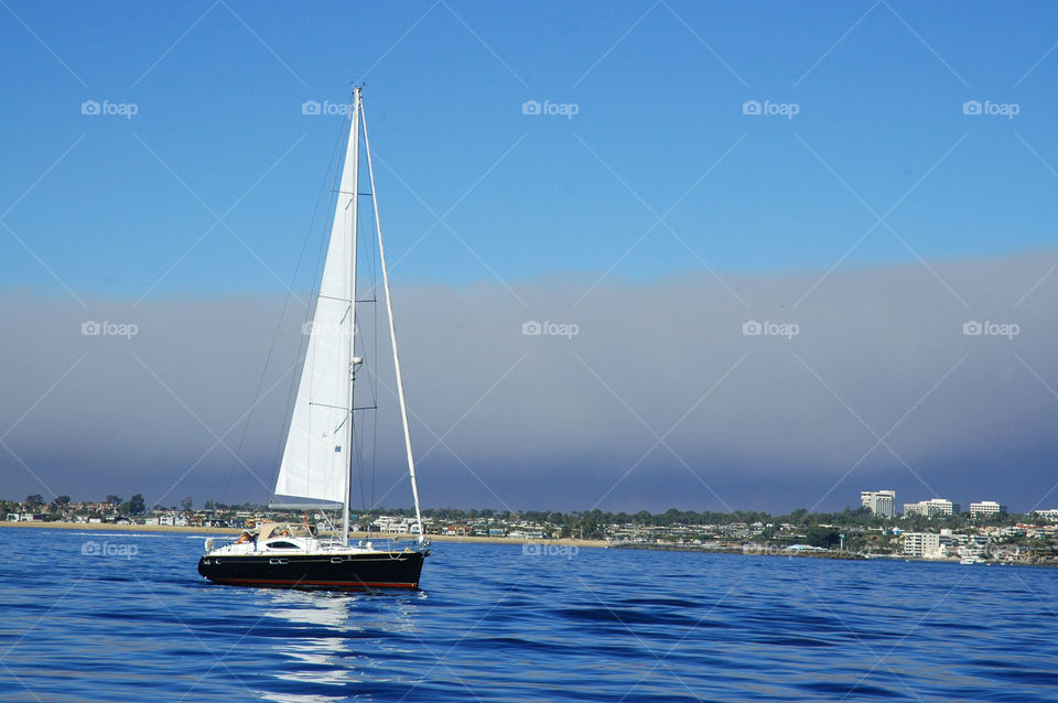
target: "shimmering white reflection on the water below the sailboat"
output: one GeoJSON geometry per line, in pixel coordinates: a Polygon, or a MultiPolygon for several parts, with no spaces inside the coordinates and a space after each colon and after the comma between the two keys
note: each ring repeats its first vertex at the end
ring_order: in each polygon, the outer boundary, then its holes
{"type": "MultiPolygon", "coordinates": [[[[348,701],[350,695],[365,694],[366,688],[387,679],[387,667],[374,652],[385,651],[388,659],[395,655],[418,656],[412,643],[420,642],[415,615],[428,597],[424,592],[274,591],[264,595],[261,620],[251,628],[248,639],[255,635],[278,636],[269,631],[273,629],[270,620],[277,626],[274,630],[282,632],[283,641],[267,650],[277,655],[269,674],[283,683],[280,690],[258,691],[262,700],[348,701]],[[401,647],[404,638],[410,643],[401,647]]],[[[408,681],[406,674],[392,674],[391,683],[408,681]]]]}

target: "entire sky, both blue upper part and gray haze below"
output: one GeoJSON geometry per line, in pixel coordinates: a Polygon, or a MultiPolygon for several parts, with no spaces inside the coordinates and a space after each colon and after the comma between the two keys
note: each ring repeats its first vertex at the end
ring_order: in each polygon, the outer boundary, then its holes
{"type": "Polygon", "coordinates": [[[4,0],[0,495],[268,498],[363,84],[424,505],[1058,506],[1017,10],[4,0]]]}

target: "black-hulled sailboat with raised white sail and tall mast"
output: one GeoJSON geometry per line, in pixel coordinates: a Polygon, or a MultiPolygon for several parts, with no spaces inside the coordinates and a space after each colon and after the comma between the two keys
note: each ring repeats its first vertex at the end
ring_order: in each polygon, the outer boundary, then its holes
{"type": "Polygon", "coordinates": [[[305,524],[266,522],[219,547],[213,538],[207,539],[205,553],[198,560],[198,573],[214,583],[287,588],[418,588],[423,561],[430,554],[422,529],[389,274],[378,219],[378,199],[375,197],[375,172],[359,87],[353,90],[350,107],[352,123],[331,238],[274,489],[276,496],[325,501],[334,507],[341,504],[341,531],[335,537],[325,538],[307,521],[305,524]],[[360,193],[361,131],[374,228],[378,234],[377,252],[389,318],[404,455],[415,505],[418,539],[413,545],[404,548],[397,543],[378,547],[370,541],[350,543],[348,539],[353,425],[357,410],[353,403],[353,389],[357,369],[364,363],[356,355],[355,334],[357,244],[361,236],[358,210],[359,196],[365,195],[360,193]]]}

